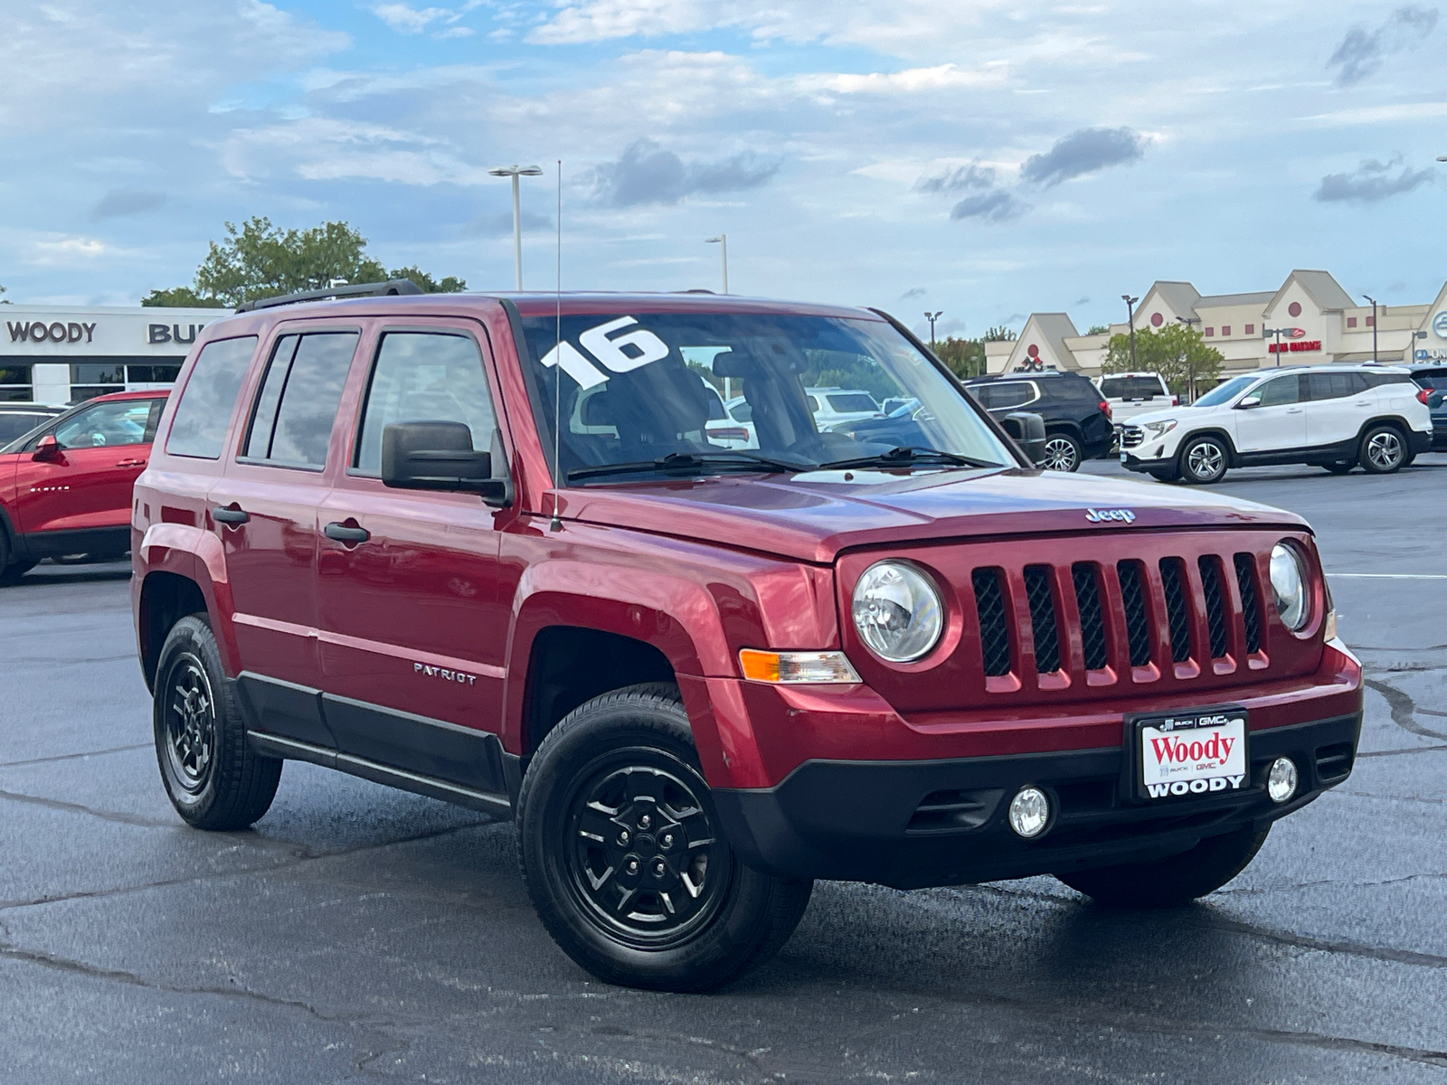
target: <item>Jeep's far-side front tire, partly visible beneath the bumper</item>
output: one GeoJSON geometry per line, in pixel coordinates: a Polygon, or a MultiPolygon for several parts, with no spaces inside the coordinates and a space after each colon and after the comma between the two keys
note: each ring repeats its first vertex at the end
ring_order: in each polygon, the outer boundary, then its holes
{"type": "Polygon", "coordinates": [[[1155,862],[1129,862],[1056,874],[1072,890],[1111,909],[1174,909],[1215,893],[1240,874],[1266,843],[1270,826],[1208,836],[1195,848],[1155,862]]]}

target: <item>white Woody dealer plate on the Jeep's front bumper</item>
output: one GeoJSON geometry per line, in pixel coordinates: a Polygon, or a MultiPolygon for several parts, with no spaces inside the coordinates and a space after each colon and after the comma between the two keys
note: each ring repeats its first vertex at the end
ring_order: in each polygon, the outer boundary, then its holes
{"type": "Polygon", "coordinates": [[[1249,786],[1246,709],[1215,707],[1134,719],[1137,796],[1227,794],[1249,786]]]}

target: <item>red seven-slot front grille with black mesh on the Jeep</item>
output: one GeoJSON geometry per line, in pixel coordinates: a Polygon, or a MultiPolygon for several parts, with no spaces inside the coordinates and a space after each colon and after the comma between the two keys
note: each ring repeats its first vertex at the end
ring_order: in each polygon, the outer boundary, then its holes
{"type": "MultiPolygon", "coordinates": [[[[1149,558],[1103,560],[1092,545],[1091,560],[1068,566],[1004,560],[971,570],[981,668],[1006,678],[988,689],[1019,692],[1033,676],[1040,676],[1036,689],[1056,690],[1075,681],[1198,681],[1270,670],[1260,556],[1233,553],[1246,541],[1240,537],[1224,542],[1226,553],[1214,553],[1214,538],[1160,541],[1165,554],[1149,558]]],[[[1146,540],[1134,547],[1150,551],[1146,540]]]]}

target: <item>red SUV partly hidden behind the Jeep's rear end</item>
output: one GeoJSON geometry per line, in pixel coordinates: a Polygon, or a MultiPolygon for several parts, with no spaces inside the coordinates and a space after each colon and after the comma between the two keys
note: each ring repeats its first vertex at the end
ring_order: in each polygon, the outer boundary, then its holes
{"type": "Polygon", "coordinates": [[[130,489],[165,402],[166,392],[97,396],[0,450],[0,583],[42,557],[130,550],[130,489]]]}

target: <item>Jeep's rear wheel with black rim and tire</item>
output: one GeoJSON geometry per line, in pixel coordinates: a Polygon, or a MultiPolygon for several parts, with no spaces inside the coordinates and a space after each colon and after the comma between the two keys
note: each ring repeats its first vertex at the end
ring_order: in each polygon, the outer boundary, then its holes
{"type": "Polygon", "coordinates": [[[201,615],[177,622],[156,661],[152,722],[171,804],[195,829],[245,829],[271,809],[282,762],[246,741],[216,635],[201,615]]]}

